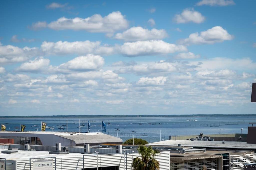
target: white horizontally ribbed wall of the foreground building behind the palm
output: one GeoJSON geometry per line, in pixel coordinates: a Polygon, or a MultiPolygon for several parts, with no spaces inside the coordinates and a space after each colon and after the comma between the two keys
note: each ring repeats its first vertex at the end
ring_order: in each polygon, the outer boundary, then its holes
{"type": "MultiPolygon", "coordinates": [[[[51,155],[52,156],[52,155],[51,155]]],[[[119,169],[131,169],[132,158],[139,156],[138,153],[127,154],[127,165],[124,161],[124,154],[99,154],[98,155],[98,167],[119,166],[119,169]]],[[[170,169],[170,155],[169,152],[161,152],[156,156],[156,160],[160,164],[161,170],[170,169]]],[[[55,166],[55,165],[54,165],[55,166]]],[[[97,167],[97,155],[86,154],[84,156],[84,168],[97,167]]],[[[70,157],[63,156],[62,158],[56,158],[56,169],[63,170],[81,170],[83,168],[83,154],[70,157]]],[[[31,161],[31,169],[33,169],[33,162],[31,161]]],[[[27,160],[17,161],[17,170],[29,170],[29,158],[27,160]]]]}

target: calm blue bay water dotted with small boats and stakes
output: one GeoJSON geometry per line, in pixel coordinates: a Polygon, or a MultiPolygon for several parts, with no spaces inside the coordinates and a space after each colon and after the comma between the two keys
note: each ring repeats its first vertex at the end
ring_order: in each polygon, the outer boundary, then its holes
{"type": "MultiPolygon", "coordinates": [[[[68,131],[79,132],[80,124],[85,126],[81,132],[87,132],[88,118],[68,118],[68,131]]],[[[65,129],[58,129],[57,125],[66,125],[66,118],[24,118],[24,119],[1,119],[0,123],[6,125],[6,130],[20,130],[20,124],[26,125],[25,131],[40,130],[41,121],[46,122],[47,126],[53,127],[46,131],[66,132],[65,129]],[[6,124],[8,123],[8,124],[6,124]],[[37,125],[38,127],[31,127],[37,125]]],[[[237,116],[237,117],[132,117],[132,118],[89,118],[91,132],[101,132],[101,120],[107,126],[106,134],[120,137],[123,141],[130,139],[133,133],[130,130],[136,130],[134,137],[142,138],[148,142],[156,142],[161,139],[168,140],[169,136],[174,135],[198,135],[204,134],[228,134],[228,133],[247,133],[249,122],[256,122],[256,117],[237,116]],[[120,128],[119,131],[115,128],[120,128]],[[147,136],[143,136],[147,135],[147,136]]]]}

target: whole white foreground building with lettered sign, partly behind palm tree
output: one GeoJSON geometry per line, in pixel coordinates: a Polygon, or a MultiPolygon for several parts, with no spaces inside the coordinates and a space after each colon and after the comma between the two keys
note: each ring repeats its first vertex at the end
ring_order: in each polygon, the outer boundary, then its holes
{"type": "MultiPolygon", "coordinates": [[[[6,145],[7,146],[7,145],[6,145]]],[[[12,147],[21,147],[24,145],[11,145],[12,147]]],[[[34,146],[31,146],[34,147],[34,146]]],[[[38,146],[38,149],[52,150],[54,146],[38,146]]],[[[1,148],[1,147],[0,147],[1,148]]],[[[72,151],[80,150],[80,153],[61,153],[61,154],[49,154],[48,151],[37,150],[7,150],[0,149],[0,165],[3,162],[6,164],[6,170],[48,170],[48,169],[62,169],[62,170],[128,170],[132,167],[132,160],[140,154],[127,151],[122,153],[113,153],[116,151],[113,149],[104,148],[90,148],[90,154],[83,154],[81,150],[83,148],[69,147],[72,151]],[[10,153],[8,153],[10,151],[10,153]],[[99,152],[96,154],[95,152],[99,152]],[[101,154],[105,152],[104,154],[101,154]],[[109,153],[107,153],[109,152],[109,153]],[[2,163],[1,163],[2,161],[2,163]]],[[[52,152],[50,152],[52,153],[52,152]]],[[[58,153],[58,152],[56,152],[58,153]]],[[[170,168],[170,155],[168,151],[161,151],[155,159],[159,162],[161,170],[169,170],[170,168]]]]}

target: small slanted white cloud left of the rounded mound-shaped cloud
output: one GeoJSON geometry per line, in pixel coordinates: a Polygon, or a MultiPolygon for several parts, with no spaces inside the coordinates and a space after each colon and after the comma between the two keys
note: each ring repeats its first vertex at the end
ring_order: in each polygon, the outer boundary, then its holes
{"type": "Polygon", "coordinates": [[[17,71],[35,72],[40,70],[45,70],[50,64],[50,60],[44,57],[35,58],[35,60],[30,60],[28,62],[22,63],[17,71]]]}

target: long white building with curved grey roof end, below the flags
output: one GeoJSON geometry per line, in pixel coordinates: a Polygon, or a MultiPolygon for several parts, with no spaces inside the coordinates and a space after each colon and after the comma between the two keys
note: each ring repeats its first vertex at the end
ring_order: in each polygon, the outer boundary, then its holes
{"type": "Polygon", "coordinates": [[[123,142],[120,138],[104,133],[79,132],[0,131],[0,138],[14,139],[14,144],[44,146],[54,146],[56,142],[60,142],[62,146],[83,146],[83,143],[88,143],[90,145],[100,145],[104,143],[122,144],[123,142]]]}

